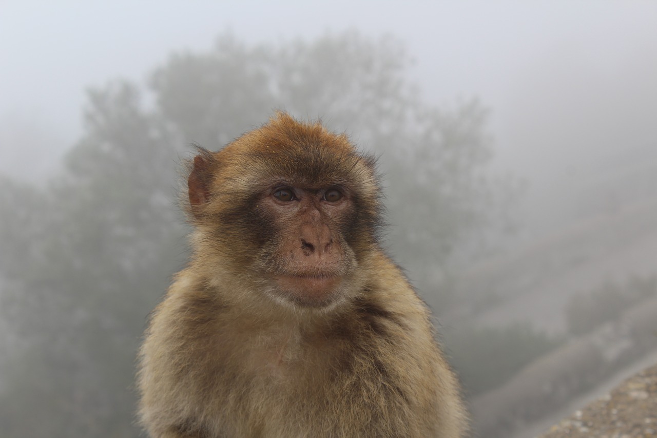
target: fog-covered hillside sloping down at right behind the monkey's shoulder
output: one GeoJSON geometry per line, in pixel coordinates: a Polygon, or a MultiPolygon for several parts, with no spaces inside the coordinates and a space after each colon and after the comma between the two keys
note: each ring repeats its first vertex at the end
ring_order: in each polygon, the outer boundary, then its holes
{"type": "Polygon", "coordinates": [[[565,339],[471,401],[478,436],[534,436],[567,415],[564,406],[574,410],[574,403],[591,400],[643,360],[657,360],[657,290],[652,285],[641,295],[645,291],[634,281],[657,277],[657,149],[592,164],[558,199],[559,205],[545,205],[545,212],[559,216],[558,224],[555,219],[549,233],[530,235],[464,272],[461,309],[442,318],[445,326],[464,320],[484,328],[526,323],[565,339]],[[595,293],[610,284],[642,298],[602,303],[611,313],[596,322],[589,318],[599,310],[595,293]],[[575,333],[568,326],[573,318],[597,325],[575,333]]]}

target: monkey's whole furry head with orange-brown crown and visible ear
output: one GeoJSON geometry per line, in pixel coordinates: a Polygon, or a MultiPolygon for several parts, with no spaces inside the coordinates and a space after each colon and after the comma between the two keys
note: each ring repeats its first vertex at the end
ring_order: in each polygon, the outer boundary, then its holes
{"type": "Polygon", "coordinates": [[[278,113],[221,151],[199,149],[187,180],[204,269],[257,282],[276,301],[325,308],[355,293],[378,245],[374,159],[346,135],[278,113]]]}

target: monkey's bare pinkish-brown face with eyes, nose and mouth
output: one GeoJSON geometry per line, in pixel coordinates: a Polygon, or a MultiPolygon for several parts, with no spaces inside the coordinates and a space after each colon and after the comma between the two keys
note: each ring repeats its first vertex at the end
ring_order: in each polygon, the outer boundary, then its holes
{"type": "Polygon", "coordinates": [[[332,183],[307,187],[279,181],[261,193],[256,214],[269,235],[254,269],[273,297],[302,306],[327,306],[349,294],[358,260],[347,240],[353,193],[332,183]]]}

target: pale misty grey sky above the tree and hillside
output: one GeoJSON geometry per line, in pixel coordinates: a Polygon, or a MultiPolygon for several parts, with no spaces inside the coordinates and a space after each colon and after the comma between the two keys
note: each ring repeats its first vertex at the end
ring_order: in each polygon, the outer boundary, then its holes
{"type": "Polygon", "coordinates": [[[353,28],[405,41],[427,101],[480,97],[497,164],[516,174],[572,176],[657,147],[656,1],[0,0],[0,172],[55,168],[84,88],[143,82],[171,51],[353,28]]]}

